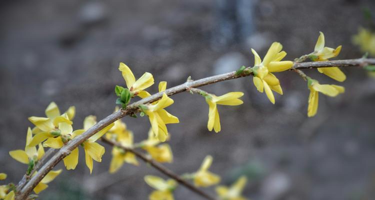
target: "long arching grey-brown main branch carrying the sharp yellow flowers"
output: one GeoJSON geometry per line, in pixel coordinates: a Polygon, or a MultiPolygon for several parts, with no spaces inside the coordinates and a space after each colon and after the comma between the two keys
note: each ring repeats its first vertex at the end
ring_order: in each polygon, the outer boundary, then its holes
{"type": "MultiPolygon", "coordinates": [[[[332,67],[332,66],[342,66],[342,67],[356,67],[356,66],[366,66],[368,64],[375,64],[375,59],[365,59],[365,58],[358,58],[358,59],[346,59],[346,60],[332,60],[332,61],[318,61],[318,62],[302,62],[302,63],[294,63],[293,67],[295,69],[306,69],[306,68],[317,68],[317,67],[332,67]]],[[[247,67],[249,68],[249,67],[247,67]]],[[[57,153],[55,153],[33,176],[30,181],[22,188],[19,195],[16,196],[17,200],[25,199],[26,196],[31,192],[31,190],[40,182],[40,180],[66,155],[68,155],[74,148],[76,148],[80,143],[84,142],[90,136],[104,128],[105,126],[109,125],[110,123],[114,122],[115,120],[126,116],[131,115],[135,112],[138,112],[138,106],[146,103],[150,103],[156,101],[161,98],[162,93],[166,93],[167,95],[173,95],[175,93],[180,93],[186,91],[188,88],[195,88],[207,84],[212,84],[215,82],[229,80],[234,78],[239,78],[243,76],[249,76],[252,73],[240,73],[235,74],[235,71],[223,73],[219,75],[209,76],[202,79],[194,80],[194,81],[186,81],[183,84],[171,87],[166,89],[163,92],[155,93],[149,97],[143,98],[138,100],[126,107],[126,109],[121,109],[117,112],[110,114],[109,116],[105,117],[94,126],[83,132],[81,135],[70,140],[66,145],[61,147],[57,153]]]]}

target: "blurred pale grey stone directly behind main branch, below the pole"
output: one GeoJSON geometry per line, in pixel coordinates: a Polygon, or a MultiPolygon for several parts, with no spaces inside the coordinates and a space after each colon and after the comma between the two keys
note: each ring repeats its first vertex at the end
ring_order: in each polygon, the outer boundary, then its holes
{"type": "Polygon", "coordinates": [[[242,65],[246,65],[247,59],[240,52],[228,52],[219,57],[213,64],[213,73],[221,74],[235,71],[242,65]]]}

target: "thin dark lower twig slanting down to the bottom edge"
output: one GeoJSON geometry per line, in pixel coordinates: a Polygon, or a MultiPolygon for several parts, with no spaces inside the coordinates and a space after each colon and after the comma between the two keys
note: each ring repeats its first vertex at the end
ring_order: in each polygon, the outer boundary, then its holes
{"type": "Polygon", "coordinates": [[[198,187],[195,187],[193,184],[187,182],[186,180],[184,180],[183,178],[181,178],[178,174],[174,173],[173,171],[171,171],[170,169],[166,168],[165,166],[163,166],[162,164],[160,164],[159,162],[156,162],[155,160],[153,160],[152,158],[149,158],[147,155],[145,155],[144,153],[142,152],[138,152],[136,150],[134,150],[133,148],[131,147],[126,147],[126,146],[123,146],[121,145],[120,143],[118,142],[115,142],[115,141],[112,141],[112,140],[109,140],[109,139],[106,139],[104,137],[101,138],[101,140],[111,146],[117,146],[119,148],[122,148],[123,150],[125,151],[129,151],[129,152],[132,152],[135,154],[135,156],[139,157],[140,159],[142,159],[144,162],[146,163],[149,163],[151,166],[153,166],[155,169],[159,170],[161,173],[175,179],[177,182],[179,182],[180,184],[184,185],[185,187],[187,187],[188,189],[190,189],[191,191],[199,194],[200,196],[206,198],[206,199],[210,199],[210,200],[214,200],[215,198],[211,197],[209,194],[205,193],[203,190],[199,189],[198,187]]]}

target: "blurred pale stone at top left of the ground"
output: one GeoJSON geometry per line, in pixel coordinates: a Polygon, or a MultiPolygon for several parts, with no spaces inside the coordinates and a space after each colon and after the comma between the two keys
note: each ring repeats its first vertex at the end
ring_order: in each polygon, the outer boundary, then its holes
{"type": "Polygon", "coordinates": [[[91,1],[81,7],[79,21],[85,25],[91,25],[103,21],[107,15],[107,9],[102,2],[91,1]]]}

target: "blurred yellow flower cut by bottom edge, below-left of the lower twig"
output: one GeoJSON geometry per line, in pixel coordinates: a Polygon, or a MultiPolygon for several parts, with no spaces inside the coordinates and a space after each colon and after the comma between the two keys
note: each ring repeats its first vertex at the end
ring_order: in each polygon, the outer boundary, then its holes
{"type": "Polygon", "coordinates": [[[153,187],[154,191],[149,195],[149,200],[173,200],[173,190],[176,188],[177,183],[173,179],[164,180],[160,177],[153,175],[144,176],[144,181],[153,187]]]}

